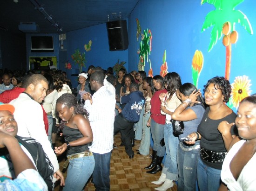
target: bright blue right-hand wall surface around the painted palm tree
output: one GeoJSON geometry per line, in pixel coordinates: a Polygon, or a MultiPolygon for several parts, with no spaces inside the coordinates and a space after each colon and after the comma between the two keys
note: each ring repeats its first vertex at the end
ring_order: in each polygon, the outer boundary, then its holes
{"type": "MultiPolygon", "coordinates": [[[[198,81],[198,88],[214,76],[225,75],[226,48],[222,45],[222,38],[217,41],[213,49],[208,52],[210,32],[212,27],[201,32],[206,15],[215,10],[215,7],[207,3],[201,6],[201,0],[140,0],[129,17],[129,70],[135,70],[139,62],[136,52],[139,42],[136,41],[136,21],[138,18],[141,30],[150,29],[152,32],[152,51],[149,58],[152,63],[153,75],[160,74],[162,56],[166,50],[168,71],[175,71],[182,77],[182,83],[192,81],[191,64],[195,50],[202,51],[204,66],[198,81]]],[[[252,29],[256,30],[254,0],[244,0],[236,6],[249,19],[252,29]]],[[[236,44],[232,45],[230,83],[236,76],[249,76],[250,90],[256,93],[256,54],[254,53],[256,36],[250,35],[240,24],[235,25],[239,34],[236,44]],[[252,70],[253,69],[253,70],[252,70]]],[[[148,72],[149,63],[145,66],[148,72]]],[[[233,108],[236,110],[236,108],[233,108]]]]}

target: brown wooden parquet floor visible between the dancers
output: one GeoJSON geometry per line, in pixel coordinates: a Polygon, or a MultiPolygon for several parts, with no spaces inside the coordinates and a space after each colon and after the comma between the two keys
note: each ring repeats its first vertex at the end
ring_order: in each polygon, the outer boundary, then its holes
{"type": "MultiPolygon", "coordinates": [[[[58,138],[58,143],[60,143],[61,138],[58,138]]],[[[115,145],[119,146],[121,144],[120,134],[115,135],[114,139],[115,145]]],[[[155,191],[154,188],[159,187],[151,183],[151,181],[157,180],[161,172],[156,174],[148,174],[147,170],[144,169],[151,162],[149,156],[138,155],[136,150],[140,146],[140,140],[135,141],[135,146],[133,150],[135,156],[133,159],[129,159],[128,155],[125,153],[124,146],[120,146],[117,149],[113,149],[111,162],[110,162],[110,190],[111,191],[155,191]]],[[[151,151],[150,151],[151,153],[151,151]]],[[[65,158],[59,158],[60,168],[65,161],[65,158]]],[[[64,172],[66,177],[67,171],[64,172]]],[[[54,191],[61,191],[61,187],[57,184],[54,191]]],[[[90,182],[84,188],[84,191],[94,191],[94,185],[90,182]]],[[[168,189],[170,191],[170,189],[168,189]]],[[[177,186],[174,185],[171,191],[176,191],[177,186]]]]}

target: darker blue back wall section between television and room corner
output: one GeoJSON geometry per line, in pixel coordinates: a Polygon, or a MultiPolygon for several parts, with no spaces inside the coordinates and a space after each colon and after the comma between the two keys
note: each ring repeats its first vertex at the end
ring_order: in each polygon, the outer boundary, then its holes
{"type": "MultiPolygon", "coordinates": [[[[87,63],[85,63],[86,67],[83,67],[83,70],[85,71],[87,71],[88,66],[90,65],[100,66],[101,68],[107,70],[108,67],[114,66],[118,59],[120,59],[120,61],[125,61],[125,67],[128,68],[128,50],[109,51],[106,24],[95,25],[81,30],[67,32],[66,38],[67,59],[72,64],[72,69],[78,69],[78,66],[74,65],[74,61],[71,58],[71,55],[77,48],[79,48],[80,51],[85,52],[85,58],[87,61],[87,63]],[[91,51],[86,52],[84,50],[84,45],[88,44],[89,40],[92,41],[91,51]]],[[[69,73],[70,71],[67,72],[69,73]]],[[[76,81],[72,80],[73,87],[76,87],[75,84],[77,84],[76,81]]]]}

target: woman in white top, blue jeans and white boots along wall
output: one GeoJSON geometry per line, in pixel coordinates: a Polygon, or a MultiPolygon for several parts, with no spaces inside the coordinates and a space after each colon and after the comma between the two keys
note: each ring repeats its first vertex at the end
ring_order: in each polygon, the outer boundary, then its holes
{"type": "Polygon", "coordinates": [[[181,101],[176,96],[176,91],[181,87],[182,82],[179,74],[170,72],[163,78],[164,86],[168,90],[167,93],[159,95],[161,101],[161,114],[166,115],[165,125],[163,129],[164,144],[166,150],[166,158],[162,169],[162,174],[157,181],[152,183],[156,185],[164,184],[155,190],[166,191],[174,184],[173,181],[178,180],[178,166],[177,166],[177,148],[179,144],[179,137],[173,134],[171,124],[171,115],[175,109],[181,104],[181,101]]]}

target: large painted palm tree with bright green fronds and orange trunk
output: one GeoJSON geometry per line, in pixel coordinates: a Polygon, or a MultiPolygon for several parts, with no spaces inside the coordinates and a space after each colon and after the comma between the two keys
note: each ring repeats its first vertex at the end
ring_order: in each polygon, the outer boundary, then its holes
{"type": "MultiPolygon", "coordinates": [[[[202,25],[202,31],[205,31],[210,26],[213,26],[211,31],[211,40],[208,47],[208,52],[211,51],[217,40],[222,37],[222,29],[225,23],[229,22],[229,33],[235,31],[235,24],[239,23],[249,33],[253,34],[251,24],[246,15],[240,10],[235,10],[235,7],[242,3],[244,0],[202,0],[201,5],[209,3],[213,5],[216,10],[209,12],[202,25]]],[[[229,35],[229,33],[227,33],[229,35]]],[[[237,38],[236,38],[237,40],[237,38]]],[[[226,46],[226,69],[225,77],[229,79],[231,64],[231,44],[226,46]]]]}

